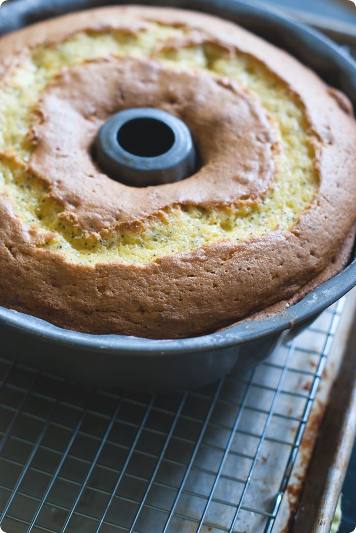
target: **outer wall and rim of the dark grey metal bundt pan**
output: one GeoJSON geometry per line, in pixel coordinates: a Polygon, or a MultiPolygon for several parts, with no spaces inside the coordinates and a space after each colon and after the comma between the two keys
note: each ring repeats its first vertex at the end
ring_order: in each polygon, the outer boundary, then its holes
{"type": "MultiPolygon", "coordinates": [[[[128,2],[104,2],[124,3],[128,2]]],[[[259,3],[140,0],[140,4],[204,11],[237,22],[308,64],[327,83],[345,92],[356,106],[356,63],[317,31],[288,21],[259,3]]],[[[1,8],[0,33],[102,5],[102,0],[12,0],[1,8]]],[[[82,334],[0,307],[2,353],[90,386],[138,391],[191,389],[228,374],[235,365],[243,370],[258,364],[274,350],[283,332],[299,333],[355,285],[356,259],[282,313],[183,340],[82,334]]]]}

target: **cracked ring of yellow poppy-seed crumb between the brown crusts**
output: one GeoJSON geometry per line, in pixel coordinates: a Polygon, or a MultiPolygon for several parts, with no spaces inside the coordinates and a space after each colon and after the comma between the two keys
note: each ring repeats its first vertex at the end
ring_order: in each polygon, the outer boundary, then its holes
{"type": "Polygon", "coordinates": [[[319,180],[313,165],[308,122],[297,96],[247,54],[238,51],[231,54],[213,44],[186,46],[179,51],[164,49],[165,41],[183,36],[186,31],[151,23],[137,34],[119,30],[79,33],[63,43],[39,46],[29,52],[1,88],[0,186],[13,201],[23,223],[35,225],[46,235],[41,245],[44,249],[64,254],[73,263],[146,265],[158,257],[193,251],[217,241],[245,241],[278,227],[290,229],[312,203],[319,180]],[[274,117],[281,146],[276,156],[275,179],[260,203],[210,211],[181,205],[169,209],[164,220],[152,218],[143,228],[118,230],[109,237],[87,238],[69,222],[63,222],[60,217],[63,206],[48,198],[46,186],[27,175],[13,156],[24,164],[31,156],[33,148],[27,135],[34,120],[32,109],[49,80],[63,68],[108,54],[150,56],[175,69],[198,69],[211,76],[227,76],[258,98],[274,117]]]}

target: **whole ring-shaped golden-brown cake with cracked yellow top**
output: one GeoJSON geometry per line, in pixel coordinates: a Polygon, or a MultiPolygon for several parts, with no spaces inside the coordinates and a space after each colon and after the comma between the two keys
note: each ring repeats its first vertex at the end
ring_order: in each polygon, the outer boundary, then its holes
{"type": "Polygon", "coordinates": [[[68,329],[179,338],[283,310],[349,259],[356,122],[291,55],[209,15],[107,7],[0,46],[0,304],[68,329]],[[183,120],[200,160],[113,181],[116,112],[183,120]]]}

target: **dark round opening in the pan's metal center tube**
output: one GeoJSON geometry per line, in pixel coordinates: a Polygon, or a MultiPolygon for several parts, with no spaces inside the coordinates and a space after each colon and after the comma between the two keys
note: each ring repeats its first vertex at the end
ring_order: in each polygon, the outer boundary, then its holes
{"type": "Polygon", "coordinates": [[[121,148],[139,157],[157,157],[170,150],[176,140],[171,128],[155,118],[134,118],[118,132],[121,148]]]}

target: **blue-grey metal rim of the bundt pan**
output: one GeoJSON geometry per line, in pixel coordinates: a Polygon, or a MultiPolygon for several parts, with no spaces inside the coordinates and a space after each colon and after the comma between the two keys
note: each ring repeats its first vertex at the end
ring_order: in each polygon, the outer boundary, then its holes
{"type": "MultiPolygon", "coordinates": [[[[26,2],[27,0],[15,0],[13,4],[5,4],[2,7],[2,13],[4,15],[6,15],[6,12],[11,13],[12,7],[19,9],[21,6],[24,6],[26,2]]],[[[36,0],[31,3],[32,5],[36,4],[36,0]]],[[[139,2],[127,3],[140,4],[139,2]]],[[[179,2],[176,2],[176,4],[178,3],[179,2]]],[[[58,4],[58,2],[51,2],[51,4],[53,6],[53,4],[58,4]]],[[[144,2],[141,2],[141,4],[144,4],[144,2]]],[[[147,4],[152,5],[153,2],[147,2],[146,5],[147,4]]],[[[160,0],[155,2],[155,4],[160,4],[160,0]]],[[[314,42],[321,44],[321,46],[324,47],[324,50],[328,49],[329,52],[333,53],[335,58],[338,58],[339,61],[337,64],[339,68],[342,66],[342,70],[345,71],[350,71],[351,69],[356,77],[356,62],[347,56],[342,49],[332,41],[332,39],[321,34],[318,30],[309,28],[302,23],[290,21],[282,15],[275,13],[273,10],[266,9],[266,7],[260,2],[249,4],[243,0],[229,0],[225,6],[219,6],[216,0],[198,0],[197,2],[194,2],[194,4],[201,4],[205,7],[209,4],[209,6],[216,7],[220,10],[227,9],[227,7],[230,10],[237,5],[244,6],[249,10],[250,14],[254,13],[255,16],[259,16],[260,18],[262,16],[267,16],[270,21],[272,20],[272,22],[276,23],[278,26],[283,25],[284,27],[294,28],[297,31],[302,30],[303,33],[311,37],[314,42]]],[[[165,5],[168,5],[168,3],[165,3],[165,5]]],[[[184,7],[184,5],[181,7],[184,7]]],[[[197,6],[194,7],[194,9],[196,8],[197,6]]],[[[26,10],[24,10],[24,12],[26,12],[26,10]]],[[[356,100],[356,94],[354,100],[356,100]]],[[[329,305],[335,303],[355,285],[356,259],[354,259],[344,270],[336,274],[336,276],[312,290],[307,296],[304,296],[300,302],[292,305],[281,313],[273,314],[268,318],[247,320],[241,324],[228,326],[222,331],[208,335],[183,339],[152,340],[144,337],[118,334],[93,335],[89,333],[80,333],[54,326],[45,320],[12,309],[7,309],[2,306],[0,306],[0,324],[14,328],[19,333],[37,337],[38,340],[76,348],[77,350],[105,351],[107,353],[125,352],[140,355],[143,353],[154,353],[155,355],[162,356],[166,354],[173,355],[206,350],[212,351],[256,341],[283,332],[293,326],[303,324],[303,322],[307,322],[314,316],[317,316],[321,311],[325,310],[329,305]]]]}

